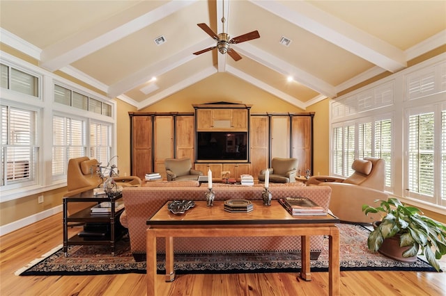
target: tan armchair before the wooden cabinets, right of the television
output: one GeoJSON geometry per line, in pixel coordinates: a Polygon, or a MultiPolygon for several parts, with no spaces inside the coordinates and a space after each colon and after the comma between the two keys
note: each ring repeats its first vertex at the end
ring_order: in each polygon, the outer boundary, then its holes
{"type": "MultiPolygon", "coordinates": [[[[298,172],[297,158],[272,158],[269,181],[272,183],[293,183],[295,182],[295,174],[298,172]]],[[[261,170],[259,174],[259,182],[265,182],[266,170],[261,170]]]]}

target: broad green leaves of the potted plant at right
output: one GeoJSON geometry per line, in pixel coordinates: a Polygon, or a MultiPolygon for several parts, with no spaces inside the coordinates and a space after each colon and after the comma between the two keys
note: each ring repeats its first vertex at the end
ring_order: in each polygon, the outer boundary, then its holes
{"type": "Polygon", "coordinates": [[[362,206],[362,211],[380,213],[382,220],[371,231],[367,239],[367,246],[373,252],[380,250],[387,239],[399,237],[399,247],[405,247],[403,258],[417,256],[420,252],[426,256],[429,264],[440,271],[438,259],[446,254],[446,227],[440,222],[426,217],[415,206],[402,204],[399,199],[390,197],[385,200],[377,199],[380,206],[362,206]]]}

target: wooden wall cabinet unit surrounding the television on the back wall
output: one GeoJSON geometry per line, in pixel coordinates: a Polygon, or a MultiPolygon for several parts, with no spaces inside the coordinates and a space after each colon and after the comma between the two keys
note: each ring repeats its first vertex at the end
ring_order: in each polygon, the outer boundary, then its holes
{"type": "Polygon", "coordinates": [[[298,158],[301,174],[313,171],[314,113],[251,113],[251,105],[227,102],[192,106],[194,113],[129,113],[132,175],[160,172],[165,178],[165,158],[190,158],[196,170],[210,169],[213,176],[229,171],[231,178],[256,178],[273,157],[298,158]],[[199,151],[222,141],[219,134],[226,137],[223,155],[213,159],[199,151]]]}

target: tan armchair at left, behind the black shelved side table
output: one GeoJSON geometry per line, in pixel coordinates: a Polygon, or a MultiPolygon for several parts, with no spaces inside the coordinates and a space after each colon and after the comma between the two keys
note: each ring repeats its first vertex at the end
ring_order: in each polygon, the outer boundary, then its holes
{"type": "MultiPolygon", "coordinates": [[[[67,170],[67,190],[64,197],[70,197],[77,195],[81,192],[97,188],[102,183],[100,175],[97,172],[98,161],[90,159],[86,156],[71,158],[68,161],[67,170]]],[[[137,176],[116,176],[113,178],[118,186],[141,186],[141,179],[137,176]]],[[[95,203],[83,203],[75,202],[70,203],[68,212],[76,213],[81,211],[87,206],[94,205],[95,203]]]]}

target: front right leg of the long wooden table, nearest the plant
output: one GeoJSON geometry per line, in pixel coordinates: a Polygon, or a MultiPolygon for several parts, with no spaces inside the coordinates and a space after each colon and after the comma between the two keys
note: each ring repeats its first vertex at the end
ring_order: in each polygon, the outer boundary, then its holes
{"type": "Polygon", "coordinates": [[[332,227],[328,237],[328,294],[339,295],[339,281],[341,272],[339,270],[339,229],[332,227]]]}

